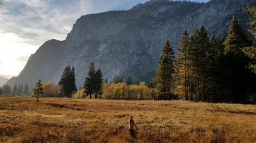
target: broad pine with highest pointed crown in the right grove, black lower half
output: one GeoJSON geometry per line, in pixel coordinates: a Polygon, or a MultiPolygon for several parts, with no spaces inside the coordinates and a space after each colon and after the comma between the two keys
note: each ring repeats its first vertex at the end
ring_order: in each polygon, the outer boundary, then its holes
{"type": "Polygon", "coordinates": [[[235,17],[229,25],[228,37],[224,45],[224,56],[225,61],[227,61],[225,76],[227,77],[227,89],[230,90],[230,100],[233,103],[247,102],[246,92],[253,89],[253,87],[249,87],[255,85],[255,78],[246,69],[249,60],[245,57],[243,49],[244,47],[250,47],[252,43],[247,39],[247,35],[243,33],[235,17]]]}

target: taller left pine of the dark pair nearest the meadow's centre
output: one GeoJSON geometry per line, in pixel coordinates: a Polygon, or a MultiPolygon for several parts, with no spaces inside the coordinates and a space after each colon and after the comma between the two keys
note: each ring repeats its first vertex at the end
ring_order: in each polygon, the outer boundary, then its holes
{"type": "Polygon", "coordinates": [[[94,93],[95,89],[95,68],[94,68],[94,63],[90,64],[88,75],[85,78],[85,92],[86,95],[90,95],[90,99],[92,98],[92,94],[94,93]]]}

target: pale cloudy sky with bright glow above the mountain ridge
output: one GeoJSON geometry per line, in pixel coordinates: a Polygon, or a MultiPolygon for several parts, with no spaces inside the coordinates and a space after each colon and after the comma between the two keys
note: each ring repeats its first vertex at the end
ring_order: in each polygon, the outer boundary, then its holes
{"type": "Polygon", "coordinates": [[[127,10],[146,1],[148,0],[2,0],[0,75],[8,79],[17,76],[40,45],[50,39],[64,40],[81,16],[127,10]]]}

